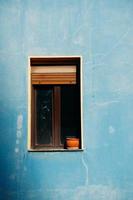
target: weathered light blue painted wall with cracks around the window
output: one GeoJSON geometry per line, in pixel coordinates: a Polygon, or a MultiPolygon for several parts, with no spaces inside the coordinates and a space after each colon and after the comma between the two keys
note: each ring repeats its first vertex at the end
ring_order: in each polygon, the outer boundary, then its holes
{"type": "Polygon", "coordinates": [[[0,0],[0,200],[133,200],[133,1],[0,0]],[[27,152],[30,55],[83,56],[83,152],[27,152]]]}

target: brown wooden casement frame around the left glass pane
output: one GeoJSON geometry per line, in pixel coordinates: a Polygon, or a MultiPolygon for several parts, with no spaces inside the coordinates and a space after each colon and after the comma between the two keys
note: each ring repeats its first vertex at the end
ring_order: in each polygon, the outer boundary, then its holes
{"type": "Polygon", "coordinates": [[[52,143],[51,144],[38,144],[37,143],[37,128],[36,128],[36,92],[37,89],[32,86],[32,140],[31,145],[33,148],[63,148],[63,144],[60,142],[60,86],[51,86],[53,90],[52,94],[52,143]]]}

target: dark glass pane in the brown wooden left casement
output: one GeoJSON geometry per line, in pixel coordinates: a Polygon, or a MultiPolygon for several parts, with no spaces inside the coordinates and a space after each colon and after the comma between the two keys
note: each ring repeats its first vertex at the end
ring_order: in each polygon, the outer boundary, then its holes
{"type": "Polygon", "coordinates": [[[41,87],[36,90],[37,143],[52,143],[52,89],[41,87]]]}

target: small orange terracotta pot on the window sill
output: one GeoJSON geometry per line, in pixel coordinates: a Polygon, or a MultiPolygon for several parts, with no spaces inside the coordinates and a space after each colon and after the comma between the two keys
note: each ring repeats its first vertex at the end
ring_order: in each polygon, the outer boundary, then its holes
{"type": "Polygon", "coordinates": [[[66,138],[67,149],[79,149],[79,138],[66,138]]]}

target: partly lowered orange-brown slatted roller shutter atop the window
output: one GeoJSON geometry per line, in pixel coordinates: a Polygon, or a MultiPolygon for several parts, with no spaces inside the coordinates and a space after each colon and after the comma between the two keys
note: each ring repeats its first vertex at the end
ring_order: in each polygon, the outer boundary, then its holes
{"type": "Polygon", "coordinates": [[[32,84],[76,84],[76,66],[32,66],[32,84]]]}

